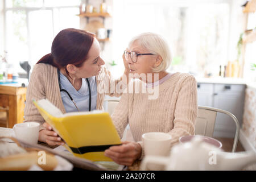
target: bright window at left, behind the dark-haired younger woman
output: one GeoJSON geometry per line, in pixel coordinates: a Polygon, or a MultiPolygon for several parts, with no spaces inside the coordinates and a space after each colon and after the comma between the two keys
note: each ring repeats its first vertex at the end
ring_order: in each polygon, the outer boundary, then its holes
{"type": "Polygon", "coordinates": [[[64,28],[79,28],[80,0],[5,0],[5,50],[12,64],[34,65],[64,28]]]}

